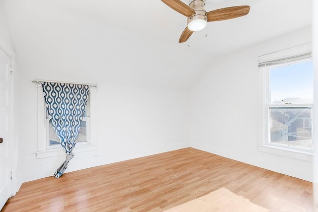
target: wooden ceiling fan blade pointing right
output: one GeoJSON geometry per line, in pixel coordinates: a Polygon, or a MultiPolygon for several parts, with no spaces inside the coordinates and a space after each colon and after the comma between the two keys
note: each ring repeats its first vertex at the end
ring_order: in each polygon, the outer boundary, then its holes
{"type": "Polygon", "coordinates": [[[247,15],[249,6],[231,6],[207,12],[208,21],[222,21],[247,15]]]}

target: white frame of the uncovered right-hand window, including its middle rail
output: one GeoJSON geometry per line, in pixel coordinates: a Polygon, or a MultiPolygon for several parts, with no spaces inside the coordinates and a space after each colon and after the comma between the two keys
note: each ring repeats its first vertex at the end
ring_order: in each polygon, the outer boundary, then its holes
{"type": "MultiPolygon", "coordinates": [[[[298,56],[306,53],[311,53],[312,44],[305,44],[291,49],[278,51],[258,57],[258,64],[266,61],[274,61],[290,56],[298,56]]],[[[270,139],[270,125],[269,125],[269,109],[271,107],[311,107],[313,104],[293,104],[293,105],[273,105],[269,104],[269,70],[279,66],[286,66],[290,64],[297,64],[300,62],[312,61],[312,59],[301,59],[295,62],[288,62],[286,64],[274,65],[270,67],[261,67],[259,70],[259,141],[258,150],[261,152],[292,157],[305,161],[312,161],[313,149],[307,149],[296,146],[285,146],[271,143],[270,139]]]]}

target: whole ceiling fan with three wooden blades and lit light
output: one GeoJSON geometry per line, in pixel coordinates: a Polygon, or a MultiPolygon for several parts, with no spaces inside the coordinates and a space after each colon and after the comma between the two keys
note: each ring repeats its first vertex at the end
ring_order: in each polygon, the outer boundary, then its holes
{"type": "Polygon", "coordinates": [[[179,43],[183,43],[195,31],[204,29],[208,21],[221,21],[247,15],[249,6],[231,6],[206,12],[205,0],[189,0],[189,6],[180,0],[161,0],[175,11],[187,16],[187,27],[183,30],[179,43]]]}

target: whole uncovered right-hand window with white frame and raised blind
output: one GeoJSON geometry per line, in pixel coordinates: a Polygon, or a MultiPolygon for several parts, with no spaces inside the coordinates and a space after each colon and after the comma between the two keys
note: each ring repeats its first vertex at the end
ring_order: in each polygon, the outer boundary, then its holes
{"type": "Polygon", "coordinates": [[[314,71],[310,51],[301,49],[260,57],[260,145],[312,152],[314,71]]]}

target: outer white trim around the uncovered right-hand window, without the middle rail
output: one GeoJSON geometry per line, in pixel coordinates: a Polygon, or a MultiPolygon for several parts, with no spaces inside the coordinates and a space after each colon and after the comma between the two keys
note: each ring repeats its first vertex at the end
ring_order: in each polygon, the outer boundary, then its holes
{"type": "MultiPolygon", "coordinates": [[[[312,44],[305,44],[291,49],[275,52],[258,57],[258,63],[266,61],[277,60],[295,55],[302,55],[312,51],[312,44]]],[[[285,157],[313,161],[313,150],[302,150],[297,148],[290,148],[269,144],[267,142],[267,105],[268,87],[266,85],[267,79],[266,67],[259,68],[259,138],[258,138],[258,151],[270,154],[281,155],[285,157]]],[[[312,106],[312,105],[311,105],[312,106]]]]}

